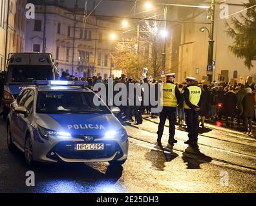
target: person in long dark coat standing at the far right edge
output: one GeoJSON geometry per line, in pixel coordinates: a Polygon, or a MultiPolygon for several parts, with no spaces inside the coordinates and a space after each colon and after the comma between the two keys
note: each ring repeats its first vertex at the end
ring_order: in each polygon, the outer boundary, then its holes
{"type": "Polygon", "coordinates": [[[244,133],[251,135],[255,100],[251,88],[247,88],[246,93],[242,99],[242,117],[244,117],[244,133]]]}

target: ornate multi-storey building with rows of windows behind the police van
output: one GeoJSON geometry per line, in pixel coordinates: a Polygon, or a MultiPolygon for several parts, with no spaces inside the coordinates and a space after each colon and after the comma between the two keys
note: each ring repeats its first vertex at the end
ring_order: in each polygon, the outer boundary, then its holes
{"type": "Polygon", "coordinates": [[[119,77],[109,35],[116,24],[95,15],[86,19],[60,5],[36,5],[36,19],[27,19],[26,52],[52,53],[60,71],[75,77],[119,77]],[[43,41],[45,39],[45,42],[43,41]]]}

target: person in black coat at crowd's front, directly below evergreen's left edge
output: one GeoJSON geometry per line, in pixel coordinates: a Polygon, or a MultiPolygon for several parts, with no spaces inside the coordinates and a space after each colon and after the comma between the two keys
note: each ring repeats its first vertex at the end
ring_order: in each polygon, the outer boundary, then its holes
{"type": "Polygon", "coordinates": [[[233,118],[237,108],[237,95],[234,92],[233,86],[229,86],[229,91],[224,95],[224,115],[226,117],[227,125],[228,117],[231,117],[231,125],[233,125],[233,118]]]}

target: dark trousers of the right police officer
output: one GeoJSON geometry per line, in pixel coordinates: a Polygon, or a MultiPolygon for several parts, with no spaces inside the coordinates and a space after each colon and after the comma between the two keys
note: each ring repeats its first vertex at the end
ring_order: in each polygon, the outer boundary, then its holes
{"type": "Polygon", "coordinates": [[[198,112],[194,109],[185,109],[186,124],[189,140],[197,142],[198,139],[198,112]]]}

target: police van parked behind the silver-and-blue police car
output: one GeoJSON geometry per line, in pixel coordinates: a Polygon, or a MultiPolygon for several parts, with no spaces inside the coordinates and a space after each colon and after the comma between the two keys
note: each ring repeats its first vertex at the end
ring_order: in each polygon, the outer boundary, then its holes
{"type": "Polygon", "coordinates": [[[58,80],[58,68],[50,53],[9,53],[3,91],[3,117],[21,89],[33,80],[58,80]]]}

